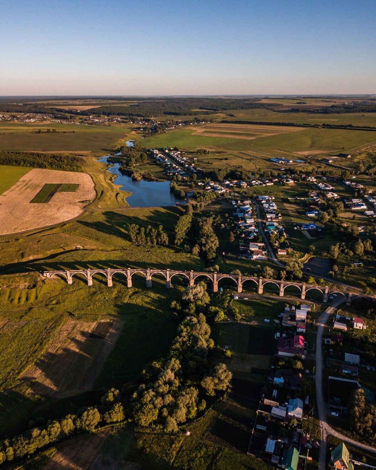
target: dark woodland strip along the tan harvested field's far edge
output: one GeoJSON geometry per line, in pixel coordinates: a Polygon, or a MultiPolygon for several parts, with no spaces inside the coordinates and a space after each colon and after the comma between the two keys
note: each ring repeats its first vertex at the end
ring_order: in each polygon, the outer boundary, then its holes
{"type": "Polygon", "coordinates": [[[30,166],[32,168],[49,168],[66,172],[82,172],[81,161],[79,157],[73,157],[72,155],[0,151],[0,165],[30,166]]]}

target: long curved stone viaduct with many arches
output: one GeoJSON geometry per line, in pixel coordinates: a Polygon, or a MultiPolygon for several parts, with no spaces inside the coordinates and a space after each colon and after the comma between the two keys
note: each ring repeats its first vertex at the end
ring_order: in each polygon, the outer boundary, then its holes
{"type": "MultiPolygon", "coordinates": [[[[339,293],[345,296],[347,305],[350,305],[351,299],[355,297],[367,297],[372,300],[375,300],[373,297],[365,296],[359,293],[359,291],[351,291],[348,288],[344,289],[331,288],[328,286],[317,286],[312,284],[306,284],[305,282],[290,282],[290,281],[278,281],[276,279],[266,279],[262,277],[252,277],[252,276],[243,276],[238,274],[221,274],[221,273],[210,273],[210,272],[196,272],[196,271],[175,271],[172,269],[77,269],[77,270],[67,270],[67,271],[44,271],[43,275],[47,278],[50,278],[55,275],[63,276],[68,284],[72,284],[72,277],[77,274],[82,274],[88,280],[88,285],[93,284],[93,275],[102,274],[107,278],[107,285],[112,286],[112,277],[116,275],[123,275],[127,278],[127,286],[132,287],[132,276],[134,274],[141,274],[145,276],[146,287],[152,287],[152,276],[155,274],[161,274],[166,279],[166,287],[171,287],[171,279],[176,275],[181,275],[187,278],[190,286],[193,286],[196,279],[200,276],[208,278],[213,283],[213,291],[218,291],[218,281],[221,279],[230,279],[237,285],[238,292],[240,293],[243,289],[244,282],[255,282],[257,287],[258,294],[264,293],[264,286],[266,284],[275,284],[279,291],[280,297],[284,296],[285,289],[289,286],[294,286],[297,290],[300,291],[300,298],[305,299],[307,292],[310,290],[318,290],[322,293],[323,302],[328,302],[328,297],[331,294],[339,293]]],[[[341,286],[342,287],[342,286],[341,286]]]]}

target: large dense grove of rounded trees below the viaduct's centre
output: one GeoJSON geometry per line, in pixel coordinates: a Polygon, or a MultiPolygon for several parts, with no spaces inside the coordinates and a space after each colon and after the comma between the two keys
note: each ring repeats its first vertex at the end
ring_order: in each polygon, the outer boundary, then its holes
{"type": "Polygon", "coordinates": [[[232,377],[224,364],[210,367],[214,346],[205,316],[188,316],[179,325],[167,359],[149,364],[131,399],[139,426],[175,432],[178,424],[206,408],[206,400],[228,389],[232,377]]]}

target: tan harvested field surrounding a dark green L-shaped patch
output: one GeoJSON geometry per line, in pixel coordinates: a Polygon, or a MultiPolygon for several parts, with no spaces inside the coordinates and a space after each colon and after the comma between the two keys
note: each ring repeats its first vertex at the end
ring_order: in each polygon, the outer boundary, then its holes
{"type": "Polygon", "coordinates": [[[34,168],[0,195],[0,235],[58,224],[79,216],[96,196],[87,173],[34,168]],[[79,184],[75,192],[56,192],[48,204],[30,201],[45,184],[79,184]]]}

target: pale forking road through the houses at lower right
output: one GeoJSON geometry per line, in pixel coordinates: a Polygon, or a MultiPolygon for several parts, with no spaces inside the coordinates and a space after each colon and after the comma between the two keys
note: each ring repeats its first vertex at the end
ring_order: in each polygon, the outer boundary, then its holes
{"type": "Polygon", "coordinates": [[[317,321],[318,329],[317,329],[317,338],[316,338],[316,376],[315,376],[315,383],[316,383],[316,400],[317,400],[317,408],[321,426],[321,445],[320,445],[320,452],[319,452],[319,470],[325,470],[325,457],[326,457],[326,450],[327,450],[327,439],[329,435],[335,436],[338,439],[343,440],[344,442],[348,442],[353,446],[359,447],[363,450],[368,450],[376,454],[376,448],[367,446],[366,444],[361,444],[360,442],[354,441],[349,439],[348,437],[344,436],[343,434],[334,430],[329,424],[327,423],[327,414],[329,413],[327,404],[324,399],[323,393],[323,386],[322,386],[322,369],[323,369],[323,357],[322,357],[322,335],[324,332],[324,326],[328,321],[330,314],[333,310],[342,302],[344,302],[344,298],[341,296],[337,298],[332,305],[330,305],[325,312],[321,313],[319,320],[317,321]]]}

